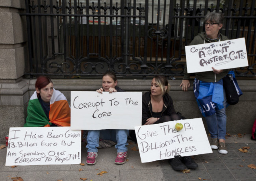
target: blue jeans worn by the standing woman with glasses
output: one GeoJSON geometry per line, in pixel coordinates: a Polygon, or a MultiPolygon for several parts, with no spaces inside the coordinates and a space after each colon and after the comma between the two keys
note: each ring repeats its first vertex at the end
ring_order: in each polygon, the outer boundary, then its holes
{"type": "Polygon", "coordinates": [[[211,138],[225,139],[227,100],[226,100],[226,93],[224,89],[223,89],[223,92],[224,92],[224,101],[223,101],[224,108],[220,110],[216,109],[215,114],[205,117],[208,131],[211,134],[211,138]]]}

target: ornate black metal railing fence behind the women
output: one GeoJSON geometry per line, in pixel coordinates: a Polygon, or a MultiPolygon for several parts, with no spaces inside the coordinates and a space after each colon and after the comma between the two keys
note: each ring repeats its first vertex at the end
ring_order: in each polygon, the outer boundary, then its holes
{"type": "Polygon", "coordinates": [[[223,12],[223,34],[245,37],[256,76],[255,0],[26,0],[28,62],[25,75],[102,76],[107,70],[131,78],[182,76],[185,46],[204,31],[208,12],[223,12]]]}

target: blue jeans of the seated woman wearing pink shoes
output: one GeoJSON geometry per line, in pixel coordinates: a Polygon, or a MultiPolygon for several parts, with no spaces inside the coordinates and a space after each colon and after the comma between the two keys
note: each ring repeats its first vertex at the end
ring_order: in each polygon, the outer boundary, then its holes
{"type": "Polygon", "coordinates": [[[127,152],[129,130],[89,130],[87,135],[87,152],[98,152],[99,139],[112,140],[117,143],[117,152],[127,152]]]}

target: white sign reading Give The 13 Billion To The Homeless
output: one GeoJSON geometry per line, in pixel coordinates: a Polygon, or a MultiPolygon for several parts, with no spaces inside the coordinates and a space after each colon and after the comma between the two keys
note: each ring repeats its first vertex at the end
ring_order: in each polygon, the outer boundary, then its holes
{"type": "Polygon", "coordinates": [[[141,162],[212,153],[202,118],[135,127],[141,162]],[[183,129],[177,131],[176,123],[183,129]]]}

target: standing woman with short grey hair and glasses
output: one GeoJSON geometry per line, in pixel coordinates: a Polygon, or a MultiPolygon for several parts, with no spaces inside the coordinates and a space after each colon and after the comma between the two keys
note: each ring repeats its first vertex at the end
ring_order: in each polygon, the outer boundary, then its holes
{"type": "MultiPolygon", "coordinates": [[[[224,16],[222,13],[208,13],[204,18],[205,32],[195,36],[190,45],[212,43],[228,40],[226,36],[219,33],[223,27],[224,16]]],[[[227,154],[225,145],[226,135],[226,95],[223,89],[223,78],[230,69],[217,70],[212,67],[212,71],[197,72],[194,80],[194,94],[200,112],[206,119],[208,130],[211,134],[211,148],[218,149],[219,153],[227,154]],[[207,107],[207,105],[212,105],[207,107]]],[[[190,87],[187,67],[184,68],[184,78],[180,84],[183,91],[190,87]]]]}

